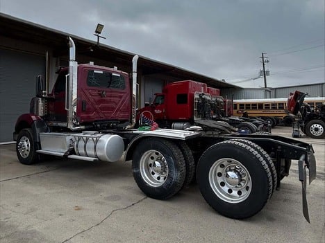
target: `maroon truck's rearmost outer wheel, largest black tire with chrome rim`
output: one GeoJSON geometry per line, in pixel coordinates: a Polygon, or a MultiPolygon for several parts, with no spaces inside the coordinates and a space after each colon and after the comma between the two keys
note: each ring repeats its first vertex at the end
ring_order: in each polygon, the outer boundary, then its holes
{"type": "Polygon", "coordinates": [[[226,217],[258,213],[272,193],[272,174],[260,153],[239,141],[224,141],[206,150],[197,165],[204,199],[226,217]]]}

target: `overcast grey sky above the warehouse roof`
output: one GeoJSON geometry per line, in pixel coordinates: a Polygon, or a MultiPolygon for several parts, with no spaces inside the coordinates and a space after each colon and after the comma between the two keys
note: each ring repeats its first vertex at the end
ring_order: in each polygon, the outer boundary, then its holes
{"type": "Polygon", "coordinates": [[[160,62],[264,87],[324,80],[324,0],[0,0],[0,12],[160,62]],[[250,80],[250,81],[247,81],[250,80]]]}

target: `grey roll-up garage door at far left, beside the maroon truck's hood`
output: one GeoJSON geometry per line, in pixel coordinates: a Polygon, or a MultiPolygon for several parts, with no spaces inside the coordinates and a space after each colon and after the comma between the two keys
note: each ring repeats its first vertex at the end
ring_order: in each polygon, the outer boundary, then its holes
{"type": "Polygon", "coordinates": [[[0,48],[0,143],[12,141],[17,117],[29,112],[36,77],[45,70],[45,57],[0,48]]]}

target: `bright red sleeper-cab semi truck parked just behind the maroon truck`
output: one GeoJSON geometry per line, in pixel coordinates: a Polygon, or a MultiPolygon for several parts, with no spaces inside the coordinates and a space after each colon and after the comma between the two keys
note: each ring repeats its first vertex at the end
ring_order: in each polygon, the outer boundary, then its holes
{"type": "Polygon", "coordinates": [[[137,120],[140,116],[147,116],[160,127],[173,129],[214,125],[228,132],[237,132],[235,127],[245,133],[271,131],[265,121],[243,120],[232,115],[232,102],[220,96],[219,89],[202,82],[183,80],[167,84],[162,93],[156,93],[153,104],[138,110],[137,120]]]}

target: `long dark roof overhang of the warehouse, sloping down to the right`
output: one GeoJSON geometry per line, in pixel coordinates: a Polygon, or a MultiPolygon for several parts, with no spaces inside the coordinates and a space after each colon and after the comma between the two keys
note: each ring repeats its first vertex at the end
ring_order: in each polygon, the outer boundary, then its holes
{"type": "MultiPolygon", "coordinates": [[[[51,46],[51,48],[54,50],[54,56],[68,54],[67,36],[71,36],[76,43],[77,59],[78,54],[85,55],[96,57],[99,60],[112,62],[117,66],[130,66],[130,68],[131,60],[135,55],[134,53],[122,51],[112,46],[103,44],[97,46],[97,42],[90,41],[89,39],[83,39],[81,37],[70,35],[68,33],[63,33],[59,30],[40,26],[38,24],[24,21],[22,19],[17,19],[16,17],[12,17],[3,13],[0,13],[0,36],[8,37],[11,39],[19,39],[24,42],[30,42],[33,44],[51,46]]],[[[229,84],[222,80],[217,80],[215,78],[210,78],[206,75],[194,73],[177,66],[158,62],[156,60],[151,60],[141,55],[140,60],[138,61],[138,69],[142,75],[154,75],[162,73],[165,75],[170,75],[177,80],[195,80],[198,82],[205,82],[210,87],[217,87],[218,89],[242,89],[241,87],[229,84]]]]}

